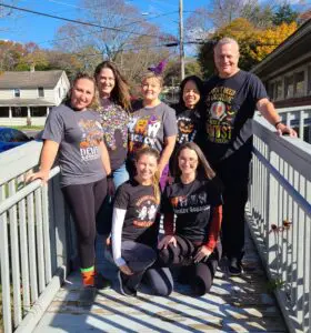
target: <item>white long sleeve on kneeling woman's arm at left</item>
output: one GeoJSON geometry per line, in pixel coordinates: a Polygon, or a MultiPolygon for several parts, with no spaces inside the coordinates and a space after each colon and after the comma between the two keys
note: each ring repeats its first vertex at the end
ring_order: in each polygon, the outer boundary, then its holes
{"type": "Polygon", "coordinates": [[[121,256],[121,244],[122,244],[122,228],[124,223],[127,210],[113,208],[112,213],[112,255],[117,266],[122,266],[126,263],[121,256]]]}

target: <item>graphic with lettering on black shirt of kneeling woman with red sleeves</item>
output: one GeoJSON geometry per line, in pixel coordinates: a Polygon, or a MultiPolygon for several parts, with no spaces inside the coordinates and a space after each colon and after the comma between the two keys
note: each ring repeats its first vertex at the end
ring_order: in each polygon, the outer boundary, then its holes
{"type": "Polygon", "coordinates": [[[210,209],[207,192],[172,196],[170,202],[175,214],[195,213],[210,209]]]}

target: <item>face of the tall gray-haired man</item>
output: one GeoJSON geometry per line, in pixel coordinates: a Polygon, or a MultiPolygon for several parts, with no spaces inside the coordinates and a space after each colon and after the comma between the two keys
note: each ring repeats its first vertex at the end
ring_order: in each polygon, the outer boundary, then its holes
{"type": "Polygon", "coordinates": [[[214,49],[214,64],[221,78],[229,78],[238,72],[239,57],[235,43],[222,44],[214,49]]]}

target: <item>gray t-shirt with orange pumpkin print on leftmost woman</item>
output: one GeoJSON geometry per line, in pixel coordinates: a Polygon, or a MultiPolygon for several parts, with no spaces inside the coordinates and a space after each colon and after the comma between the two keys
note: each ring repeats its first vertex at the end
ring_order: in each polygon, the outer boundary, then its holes
{"type": "Polygon", "coordinates": [[[51,110],[42,139],[60,143],[61,186],[87,184],[106,176],[99,149],[102,135],[97,112],[74,111],[64,104],[51,110]]]}

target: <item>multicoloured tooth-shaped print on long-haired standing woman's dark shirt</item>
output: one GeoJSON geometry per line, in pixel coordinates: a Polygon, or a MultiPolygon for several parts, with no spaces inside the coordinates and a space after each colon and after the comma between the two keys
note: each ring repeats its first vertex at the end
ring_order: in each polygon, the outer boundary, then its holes
{"type": "Polygon", "coordinates": [[[117,149],[117,133],[121,135],[122,145],[128,145],[128,122],[129,117],[118,105],[109,105],[100,112],[102,117],[102,124],[104,128],[104,143],[110,150],[117,149]]]}

